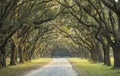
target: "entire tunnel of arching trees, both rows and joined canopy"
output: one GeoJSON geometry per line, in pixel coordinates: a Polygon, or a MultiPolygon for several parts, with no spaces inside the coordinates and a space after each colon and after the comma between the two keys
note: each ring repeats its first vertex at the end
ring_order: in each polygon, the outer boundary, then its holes
{"type": "Polygon", "coordinates": [[[60,43],[108,66],[112,49],[120,68],[120,0],[1,0],[0,10],[0,67],[51,56],[60,43]]]}

